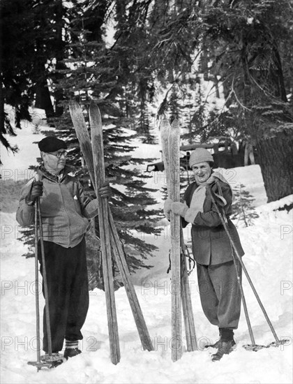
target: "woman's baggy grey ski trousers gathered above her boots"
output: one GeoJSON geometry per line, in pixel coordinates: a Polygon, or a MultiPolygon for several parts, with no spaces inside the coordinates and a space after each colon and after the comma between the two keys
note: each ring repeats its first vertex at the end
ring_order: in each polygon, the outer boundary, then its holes
{"type": "MultiPolygon", "coordinates": [[[[237,268],[241,277],[239,262],[237,268]]],[[[241,293],[233,260],[216,265],[197,263],[197,279],[202,309],[209,322],[219,328],[236,330],[240,318],[241,293]]]]}

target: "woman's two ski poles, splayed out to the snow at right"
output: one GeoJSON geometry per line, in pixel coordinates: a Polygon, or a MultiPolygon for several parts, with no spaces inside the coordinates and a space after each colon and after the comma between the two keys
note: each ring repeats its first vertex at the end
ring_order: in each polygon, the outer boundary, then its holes
{"type": "MultiPolygon", "coordinates": [[[[239,253],[238,253],[238,251],[237,251],[237,249],[236,249],[235,243],[234,243],[234,241],[233,241],[233,239],[232,239],[232,237],[231,237],[231,234],[230,234],[230,230],[229,230],[229,228],[228,228],[228,226],[227,226],[227,223],[225,222],[225,219],[224,219],[223,214],[220,212],[220,209],[218,208],[218,205],[216,204],[216,201],[215,201],[215,199],[214,199],[214,197],[213,197],[213,193],[212,193],[212,191],[211,191],[210,194],[211,194],[211,200],[212,200],[213,204],[214,204],[215,207],[216,207],[216,210],[217,210],[217,212],[218,212],[218,215],[220,216],[220,221],[222,222],[223,227],[225,228],[225,231],[226,231],[226,233],[227,233],[227,236],[229,237],[229,240],[230,240],[230,244],[231,244],[231,246],[232,246],[232,249],[234,250],[234,252],[235,252],[235,254],[236,254],[236,257],[238,258],[239,263],[241,264],[241,267],[242,267],[244,273],[246,274],[246,278],[248,279],[248,282],[249,282],[249,284],[250,284],[250,287],[252,288],[253,293],[255,294],[255,297],[256,297],[256,299],[257,299],[258,304],[260,304],[260,308],[262,309],[262,313],[264,313],[264,317],[266,318],[266,322],[269,324],[269,327],[271,328],[271,332],[273,333],[273,337],[276,339],[277,344],[280,344],[280,340],[278,339],[278,336],[277,336],[277,334],[276,334],[276,331],[274,330],[273,325],[271,324],[271,320],[269,320],[269,316],[267,315],[266,310],[264,309],[264,306],[263,306],[263,304],[262,304],[262,302],[261,302],[261,300],[260,300],[260,297],[259,297],[259,295],[257,294],[257,290],[255,289],[255,286],[253,285],[253,281],[251,281],[251,279],[250,279],[250,276],[249,276],[249,274],[248,274],[248,272],[247,272],[247,269],[246,269],[246,267],[245,267],[245,265],[244,265],[244,263],[243,263],[243,261],[242,261],[242,259],[241,259],[241,256],[239,255],[239,253]]],[[[234,260],[234,263],[235,263],[236,260],[235,260],[234,252],[232,252],[232,255],[233,255],[233,260],[234,260]]],[[[237,273],[237,279],[238,279],[238,278],[239,278],[239,275],[238,275],[238,271],[237,271],[237,269],[236,269],[236,273],[237,273]]],[[[238,280],[238,281],[239,281],[239,280],[238,280]]],[[[243,292],[242,285],[241,285],[240,281],[239,281],[239,288],[240,288],[240,290],[243,292]],[[241,288],[240,288],[240,287],[241,287],[241,288]]],[[[242,296],[242,294],[241,294],[241,296],[242,296]]],[[[243,307],[244,307],[244,303],[245,303],[245,302],[243,302],[243,307]]],[[[245,303],[244,311],[247,311],[246,303],[245,303]]],[[[248,314],[248,313],[247,313],[247,314],[248,314]]],[[[247,318],[246,318],[246,320],[247,320],[247,318]]],[[[251,329],[250,322],[249,322],[248,327],[250,327],[250,332],[251,332],[251,333],[250,333],[250,338],[251,338],[251,335],[252,335],[252,329],[251,329]]],[[[253,345],[255,345],[254,338],[251,338],[251,341],[252,341],[253,345]]]]}

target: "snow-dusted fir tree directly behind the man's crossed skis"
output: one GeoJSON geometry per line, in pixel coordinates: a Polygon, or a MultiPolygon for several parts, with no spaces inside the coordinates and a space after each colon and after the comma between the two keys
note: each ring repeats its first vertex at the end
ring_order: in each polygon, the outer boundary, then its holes
{"type": "MultiPolygon", "coordinates": [[[[105,171],[107,179],[110,180],[113,196],[110,199],[110,206],[117,225],[119,236],[124,244],[126,260],[130,271],[134,272],[140,267],[145,267],[144,259],[151,256],[156,246],[147,244],[143,239],[133,235],[133,231],[157,235],[160,230],[156,228],[156,216],[158,210],[151,209],[156,201],[149,195],[153,190],[144,186],[144,179],[140,167],[145,161],[151,159],[133,158],[131,141],[137,137],[128,135],[123,127],[132,128],[133,116],[137,115],[132,111],[126,98],[125,89],[127,84],[123,79],[123,71],[119,74],[117,59],[111,50],[105,47],[103,40],[92,40],[93,31],[86,30],[86,24],[93,24],[90,20],[81,17],[75,19],[68,29],[71,43],[68,45],[70,55],[64,62],[67,69],[62,71],[66,74],[59,80],[58,87],[68,99],[77,98],[77,101],[84,105],[84,117],[88,121],[87,108],[89,99],[94,98],[103,116],[104,147],[105,147],[105,171]],[[117,79],[118,77],[118,79],[117,79]],[[121,189],[123,185],[123,189],[121,189]]],[[[95,36],[98,34],[94,34],[95,36]]],[[[123,52],[124,47],[117,47],[123,52]]],[[[127,56],[126,52],[123,52],[127,56]]],[[[125,69],[125,71],[127,71],[125,69]]],[[[128,95],[127,95],[128,96],[128,95]]],[[[67,102],[66,102],[67,103],[67,102]]],[[[63,103],[66,106],[66,103],[63,103]]],[[[135,109],[135,105],[133,106],[135,109]]],[[[65,110],[59,119],[54,119],[59,137],[68,142],[71,150],[68,156],[68,163],[75,166],[76,175],[82,180],[88,193],[94,197],[93,187],[89,185],[89,175],[80,161],[80,149],[73,124],[70,121],[68,111],[65,110]]],[[[98,221],[94,224],[95,235],[89,233],[87,241],[90,244],[88,252],[89,264],[96,267],[93,260],[97,257],[95,248],[96,236],[98,233],[98,221]],[[91,246],[93,244],[93,246],[91,246]]],[[[114,265],[116,271],[117,266],[114,265]]],[[[117,272],[117,271],[116,271],[117,272]]],[[[96,275],[95,269],[89,268],[90,281],[93,285],[103,286],[100,277],[96,275]]],[[[115,274],[115,281],[119,286],[119,275],[115,274]]]]}

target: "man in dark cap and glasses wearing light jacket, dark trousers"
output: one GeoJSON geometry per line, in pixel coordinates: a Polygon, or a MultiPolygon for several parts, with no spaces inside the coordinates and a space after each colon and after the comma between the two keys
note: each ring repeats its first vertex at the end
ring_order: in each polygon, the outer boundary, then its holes
{"type": "MultiPolygon", "coordinates": [[[[89,283],[84,235],[89,220],[98,214],[98,200],[84,193],[82,184],[70,175],[74,169],[66,165],[66,142],[48,136],[38,142],[43,165],[38,177],[31,179],[21,191],[16,219],[20,226],[34,222],[34,202],[40,198],[43,224],[45,268],[50,309],[52,353],[59,353],[66,341],[66,359],[81,353],[78,341],[89,308],[89,283]],[[38,181],[36,181],[38,179],[38,181]]],[[[109,185],[98,191],[109,198],[109,185]]],[[[40,252],[40,242],[38,244],[40,252]]],[[[41,257],[40,273],[43,275],[41,257]]],[[[47,325],[44,309],[43,350],[48,353],[47,325]]]]}

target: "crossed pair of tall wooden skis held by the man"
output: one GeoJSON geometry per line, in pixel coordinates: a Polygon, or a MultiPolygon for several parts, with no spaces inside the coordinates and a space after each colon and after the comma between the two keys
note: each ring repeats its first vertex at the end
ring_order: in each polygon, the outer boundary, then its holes
{"type": "Polygon", "coordinates": [[[91,138],[80,105],[75,101],[70,102],[69,110],[73,126],[80,142],[80,147],[87,163],[91,182],[93,183],[98,198],[98,221],[100,227],[100,240],[102,245],[103,278],[105,283],[105,297],[107,307],[107,321],[110,339],[110,355],[113,364],[120,360],[119,334],[117,325],[117,312],[114,297],[114,284],[112,274],[112,253],[119,267],[121,279],[128,296],[133,317],[140,335],[144,350],[153,350],[149,331],[142,315],[140,303],[130,281],[130,272],[123,248],[117,234],[110,207],[105,198],[100,198],[98,190],[105,184],[105,165],[103,149],[103,126],[98,105],[91,102],[89,107],[89,121],[91,138]]]}

